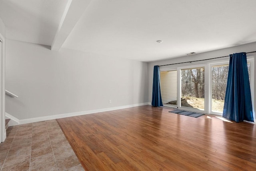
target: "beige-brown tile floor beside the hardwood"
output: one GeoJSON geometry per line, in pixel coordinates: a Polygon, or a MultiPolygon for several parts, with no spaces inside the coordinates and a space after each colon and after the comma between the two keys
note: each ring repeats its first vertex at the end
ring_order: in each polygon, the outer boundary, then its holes
{"type": "Polygon", "coordinates": [[[84,171],[56,120],[9,127],[1,171],[84,171]]]}

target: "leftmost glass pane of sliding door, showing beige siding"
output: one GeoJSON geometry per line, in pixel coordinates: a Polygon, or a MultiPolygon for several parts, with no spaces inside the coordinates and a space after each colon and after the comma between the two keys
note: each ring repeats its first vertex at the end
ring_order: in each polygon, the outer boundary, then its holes
{"type": "Polygon", "coordinates": [[[161,96],[164,106],[177,106],[177,70],[161,72],[161,96]]]}

